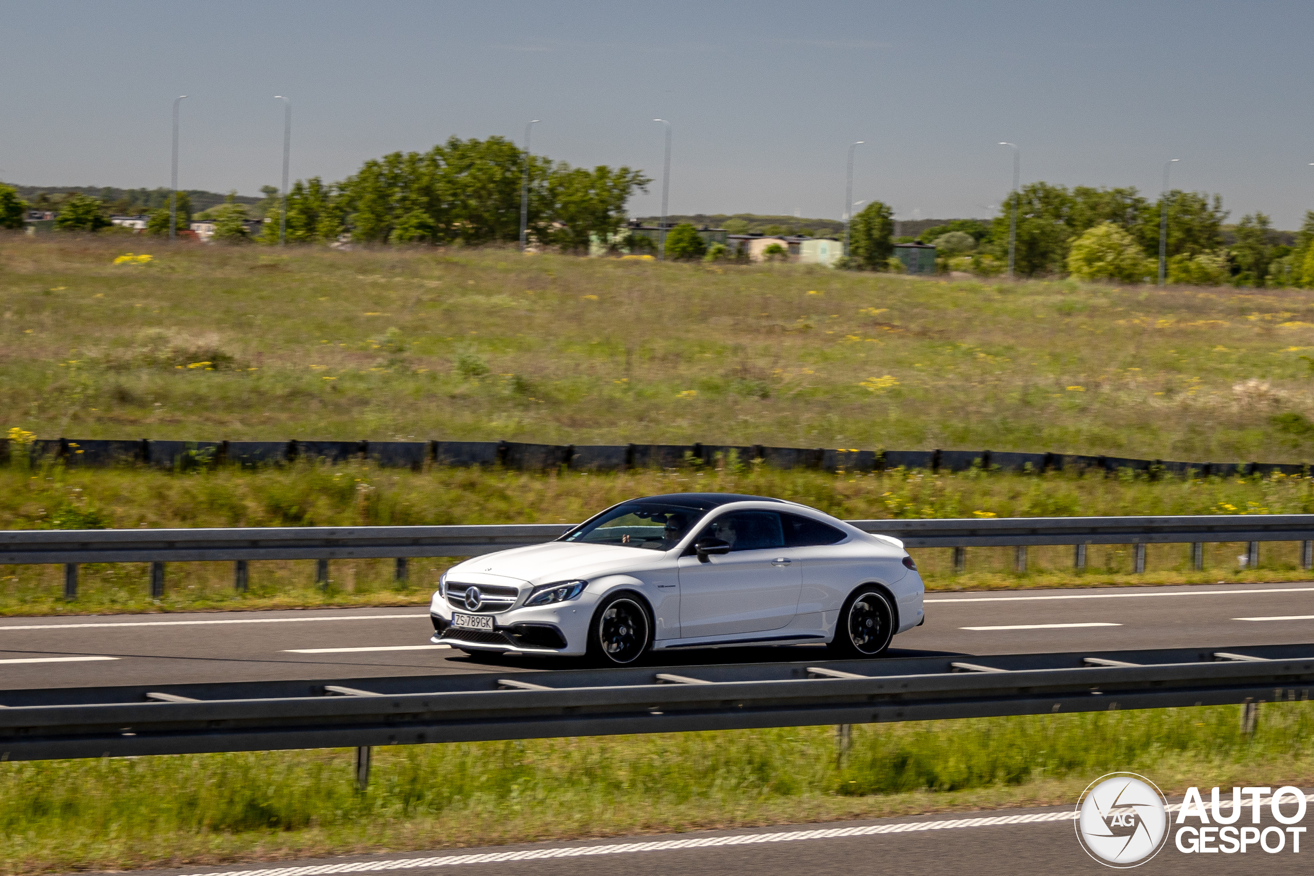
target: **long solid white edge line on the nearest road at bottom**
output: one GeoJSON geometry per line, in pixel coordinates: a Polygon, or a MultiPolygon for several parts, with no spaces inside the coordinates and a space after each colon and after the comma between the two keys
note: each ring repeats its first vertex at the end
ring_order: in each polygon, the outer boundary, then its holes
{"type": "Polygon", "coordinates": [[[565,848],[522,848],[519,851],[486,852],[482,855],[442,855],[438,858],[403,858],[399,860],[359,860],[351,864],[325,864],[322,867],[269,867],[265,869],[230,869],[221,873],[194,873],[193,876],[323,876],[327,873],[363,873],[388,869],[420,869],[426,867],[453,867],[457,864],[491,864],[503,860],[541,860],[545,858],[589,858],[593,855],[623,855],[639,851],[669,851],[674,848],[708,848],[714,846],[757,846],[759,843],[796,842],[799,839],[838,839],[844,837],[871,837],[876,834],[903,834],[921,830],[957,827],[984,827],[988,825],[1035,825],[1054,821],[1074,821],[1075,812],[1045,812],[1026,816],[996,816],[993,818],[953,818],[947,821],[915,821],[901,825],[869,825],[865,827],[827,827],[820,830],[790,830],[774,834],[740,834],[737,837],[696,837],[661,839],[656,842],[612,843],[607,846],[568,846],[565,848]]]}

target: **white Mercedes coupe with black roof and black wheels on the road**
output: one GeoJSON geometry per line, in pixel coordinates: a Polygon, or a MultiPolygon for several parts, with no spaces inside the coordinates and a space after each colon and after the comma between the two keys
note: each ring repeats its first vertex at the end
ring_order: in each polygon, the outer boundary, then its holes
{"type": "Polygon", "coordinates": [[[430,607],[430,641],[602,666],[648,651],[809,642],[879,657],[922,623],[924,590],[896,538],[794,502],[674,493],[452,566],[430,607]]]}

